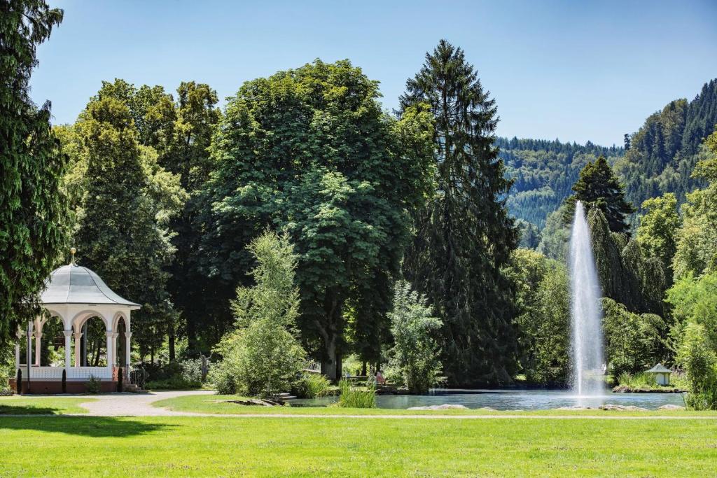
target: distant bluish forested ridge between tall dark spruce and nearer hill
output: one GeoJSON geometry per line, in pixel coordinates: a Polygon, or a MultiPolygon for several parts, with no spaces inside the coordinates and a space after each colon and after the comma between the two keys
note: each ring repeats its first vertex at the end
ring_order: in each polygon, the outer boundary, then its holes
{"type": "Polygon", "coordinates": [[[579,145],[559,140],[498,138],[495,145],[500,148],[506,173],[515,181],[508,196],[509,211],[539,229],[545,226],[548,214],[571,195],[571,187],[589,161],[602,155],[614,163],[623,153],[622,148],[606,148],[589,141],[579,145]]]}

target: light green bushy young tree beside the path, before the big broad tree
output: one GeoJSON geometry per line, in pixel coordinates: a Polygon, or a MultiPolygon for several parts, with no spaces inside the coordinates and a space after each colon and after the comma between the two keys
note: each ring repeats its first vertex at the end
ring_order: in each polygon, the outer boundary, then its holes
{"type": "Polygon", "coordinates": [[[222,361],[212,368],[219,393],[276,396],[300,377],[305,352],[294,337],[299,292],[294,285],[297,256],[288,234],[272,231],[247,247],[257,260],[253,287],[239,287],[232,309],[237,330],[215,350],[222,361]]]}

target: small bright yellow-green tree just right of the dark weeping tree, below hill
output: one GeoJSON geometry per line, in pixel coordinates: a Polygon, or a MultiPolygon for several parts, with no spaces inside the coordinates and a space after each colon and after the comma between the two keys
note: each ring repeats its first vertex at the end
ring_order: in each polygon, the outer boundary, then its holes
{"type": "Polygon", "coordinates": [[[677,251],[676,238],[680,228],[677,198],[673,193],[647,199],[642,203],[645,211],[637,228],[637,242],[646,257],[660,260],[665,270],[667,285],[672,285],[672,262],[677,251]]]}

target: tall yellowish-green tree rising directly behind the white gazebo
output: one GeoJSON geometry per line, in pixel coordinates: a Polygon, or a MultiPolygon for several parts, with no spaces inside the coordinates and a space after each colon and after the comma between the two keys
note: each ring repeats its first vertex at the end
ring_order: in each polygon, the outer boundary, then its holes
{"type": "Polygon", "coordinates": [[[133,338],[146,352],[161,344],[175,314],[166,291],[174,253],[167,226],[186,198],[179,179],[158,165],[155,150],[138,144],[127,105],[101,93],[75,124],[85,181],[74,240],[80,264],[142,305],[134,313],[133,338]]]}

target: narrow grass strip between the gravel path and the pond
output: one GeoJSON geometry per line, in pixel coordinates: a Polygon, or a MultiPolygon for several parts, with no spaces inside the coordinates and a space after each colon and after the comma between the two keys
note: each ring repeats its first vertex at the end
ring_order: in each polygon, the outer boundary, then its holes
{"type": "Polygon", "coordinates": [[[176,411],[192,411],[203,414],[299,414],[299,415],[600,415],[600,416],[717,416],[716,411],[603,411],[603,410],[538,410],[538,411],[486,411],[486,410],[390,410],[386,408],[338,408],[329,407],[260,407],[227,403],[242,398],[235,395],[188,395],[167,398],[153,406],[176,411]]]}

